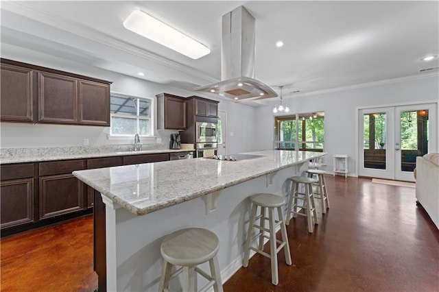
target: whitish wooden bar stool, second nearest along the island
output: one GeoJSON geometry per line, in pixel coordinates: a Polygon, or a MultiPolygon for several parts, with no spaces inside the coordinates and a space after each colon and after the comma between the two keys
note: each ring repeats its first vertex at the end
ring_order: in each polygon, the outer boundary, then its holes
{"type": "Polygon", "coordinates": [[[252,201],[252,212],[250,214],[250,221],[248,223],[248,232],[246,245],[244,247],[244,261],[243,266],[248,267],[248,258],[250,256],[250,250],[254,250],[263,256],[270,258],[272,265],[272,283],[277,285],[279,282],[277,271],[277,253],[282,248],[285,252],[285,261],[287,265],[292,265],[291,254],[289,253],[289,245],[287,238],[287,228],[285,226],[285,219],[283,217],[282,207],[285,206],[285,200],[278,195],[261,193],[253,195],[250,200],[252,201]],[[261,212],[257,215],[257,208],[261,207],[261,212]],[[268,209],[268,217],[265,217],[265,208],[268,209]],[[277,208],[278,221],[274,219],[274,209],[277,208]],[[259,225],[256,221],[259,220],[259,225]],[[268,228],[265,228],[265,220],[268,220],[268,228]],[[276,227],[281,226],[282,241],[276,239],[276,227]],[[259,232],[252,236],[253,228],[259,229],[259,232]],[[268,232],[270,236],[264,234],[268,232]],[[252,247],[251,243],[254,239],[259,238],[258,248],[252,247]],[[263,252],[263,239],[270,240],[270,254],[263,252]],[[277,243],[280,245],[277,247],[277,243]]]}

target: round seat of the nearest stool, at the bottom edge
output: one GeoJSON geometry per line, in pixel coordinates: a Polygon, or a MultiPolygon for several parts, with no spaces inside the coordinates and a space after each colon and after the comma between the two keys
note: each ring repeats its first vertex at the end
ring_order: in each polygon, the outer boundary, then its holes
{"type": "Polygon", "coordinates": [[[215,233],[202,228],[178,230],[163,239],[160,252],[172,265],[200,265],[219,250],[215,233]]]}

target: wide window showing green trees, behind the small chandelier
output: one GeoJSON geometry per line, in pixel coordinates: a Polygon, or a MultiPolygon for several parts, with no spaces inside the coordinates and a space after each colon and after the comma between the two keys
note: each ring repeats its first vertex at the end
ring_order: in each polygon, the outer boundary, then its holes
{"type": "Polygon", "coordinates": [[[276,148],[323,151],[324,112],[275,117],[276,148]]]}

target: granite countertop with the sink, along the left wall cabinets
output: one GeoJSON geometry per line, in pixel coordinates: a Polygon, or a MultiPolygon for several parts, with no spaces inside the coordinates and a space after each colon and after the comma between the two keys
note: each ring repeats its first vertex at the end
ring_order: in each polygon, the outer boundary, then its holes
{"type": "MultiPolygon", "coordinates": [[[[144,145],[145,146],[145,145],[144,145]]],[[[154,146],[156,147],[156,146],[154,146]]],[[[106,145],[95,147],[45,147],[45,148],[10,148],[1,149],[1,165],[22,162],[43,162],[53,160],[69,160],[84,158],[99,158],[110,156],[129,156],[139,154],[159,154],[182,151],[195,151],[193,145],[182,145],[181,149],[159,149],[145,146],[142,151],[130,151],[127,145],[106,145]]]]}

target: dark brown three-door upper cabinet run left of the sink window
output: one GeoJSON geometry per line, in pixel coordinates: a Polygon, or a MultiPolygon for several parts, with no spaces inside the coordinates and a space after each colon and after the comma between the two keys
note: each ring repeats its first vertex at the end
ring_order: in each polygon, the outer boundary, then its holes
{"type": "Polygon", "coordinates": [[[1,121],[109,126],[110,84],[1,59],[1,121]]]}

